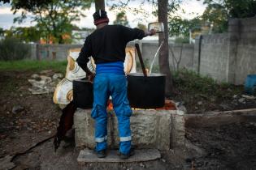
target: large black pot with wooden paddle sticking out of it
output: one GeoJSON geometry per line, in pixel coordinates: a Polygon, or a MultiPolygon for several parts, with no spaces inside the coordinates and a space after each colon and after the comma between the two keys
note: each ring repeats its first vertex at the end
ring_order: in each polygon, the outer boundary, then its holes
{"type": "Polygon", "coordinates": [[[132,108],[162,108],[164,106],[165,74],[128,74],[128,100],[132,108]]]}

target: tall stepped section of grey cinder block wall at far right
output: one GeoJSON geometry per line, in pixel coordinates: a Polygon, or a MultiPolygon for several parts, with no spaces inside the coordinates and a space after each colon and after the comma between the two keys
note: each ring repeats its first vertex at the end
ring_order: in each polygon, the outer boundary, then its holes
{"type": "Polygon", "coordinates": [[[193,70],[200,74],[245,83],[247,74],[256,74],[256,17],[230,19],[227,33],[202,36],[201,45],[197,39],[193,58],[193,70]]]}

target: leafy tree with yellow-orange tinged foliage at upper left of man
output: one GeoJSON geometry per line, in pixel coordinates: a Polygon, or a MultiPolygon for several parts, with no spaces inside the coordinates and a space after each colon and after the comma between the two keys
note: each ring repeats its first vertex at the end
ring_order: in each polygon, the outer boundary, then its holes
{"type": "Polygon", "coordinates": [[[14,22],[22,23],[28,17],[28,12],[33,14],[32,19],[40,28],[41,36],[47,42],[51,40],[54,43],[63,44],[65,37],[71,36],[72,21],[85,16],[82,11],[89,8],[92,0],[13,0],[11,2],[14,14],[19,9],[24,9],[20,17],[14,19],[14,22]]]}

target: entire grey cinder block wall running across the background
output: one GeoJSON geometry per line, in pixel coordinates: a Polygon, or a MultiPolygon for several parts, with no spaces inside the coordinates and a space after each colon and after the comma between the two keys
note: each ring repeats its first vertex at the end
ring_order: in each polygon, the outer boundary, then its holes
{"type": "MultiPolygon", "coordinates": [[[[140,44],[145,66],[150,69],[158,49],[158,41],[136,42],[140,44]]],[[[200,39],[197,39],[194,45],[176,45],[169,42],[171,69],[176,70],[176,61],[181,58],[180,69],[195,70],[200,74],[209,75],[218,82],[243,84],[247,74],[256,74],[256,17],[230,19],[227,33],[204,35],[202,43],[199,42],[200,39]]],[[[133,41],[128,45],[134,44],[133,41]]],[[[69,49],[81,47],[82,45],[31,45],[31,58],[66,60],[69,49]]],[[[140,68],[140,65],[137,65],[138,71],[140,68]]],[[[154,69],[158,69],[158,58],[154,62],[154,69]]]]}

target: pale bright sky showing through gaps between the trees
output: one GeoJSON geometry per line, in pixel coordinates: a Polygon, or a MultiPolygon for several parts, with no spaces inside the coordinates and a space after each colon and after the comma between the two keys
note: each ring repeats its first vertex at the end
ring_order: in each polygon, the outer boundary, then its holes
{"type": "MultiPolygon", "coordinates": [[[[108,0],[106,2],[106,12],[110,19],[110,23],[113,23],[115,20],[115,15],[117,14],[117,11],[110,11],[108,4],[113,2],[113,0],[108,0]]],[[[117,1],[118,2],[118,1],[117,1]]],[[[136,14],[132,11],[126,10],[126,15],[128,16],[128,22],[129,26],[132,28],[137,27],[137,23],[143,23],[147,25],[150,22],[157,21],[157,18],[152,15],[152,11],[154,11],[154,6],[152,6],[149,3],[145,3],[143,6],[140,6],[141,1],[131,1],[128,6],[131,8],[137,8],[138,6],[144,9],[147,14],[146,16],[136,14]]],[[[197,0],[184,0],[181,4],[181,8],[184,9],[185,14],[183,14],[181,11],[177,11],[176,15],[182,16],[184,19],[192,19],[193,17],[197,15],[202,15],[202,12],[205,10],[206,6],[202,4],[202,1],[197,0]]],[[[93,25],[93,12],[95,11],[95,6],[92,5],[89,10],[86,10],[84,13],[86,15],[85,18],[81,17],[80,21],[74,22],[79,28],[94,28],[93,25]]],[[[29,27],[34,25],[35,23],[32,23],[31,20],[26,20],[26,22],[18,24],[13,23],[13,19],[17,16],[19,16],[21,11],[17,12],[17,14],[13,15],[11,11],[11,6],[8,4],[2,4],[0,2],[0,28],[9,29],[11,26],[15,27],[29,27]]]]}

